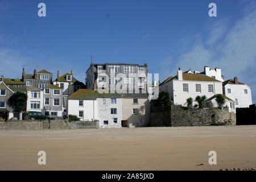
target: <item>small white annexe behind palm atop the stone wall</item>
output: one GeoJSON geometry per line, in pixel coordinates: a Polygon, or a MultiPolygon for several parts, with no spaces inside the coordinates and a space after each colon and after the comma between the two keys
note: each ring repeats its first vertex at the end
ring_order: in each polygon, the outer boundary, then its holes
{"type": "MultiPolygon", "coordinates": [[[[205,101],[205,107],[208,107],[208,108],[211,108],[211,107],[218,107],[218,104],[216,102],[216,95],[208,98],[206,101],[205,101]]],[[[225,98],[225,104],[223,107],[228,107],[228,110],[229,112],[233,112],[233,113],[236,113],[236,105],[235,105],[235,102],[231,99],[231,98],[228,98],[226,97],[225,95],[222,94],[222,96],[224,96],[225,98]]]]}

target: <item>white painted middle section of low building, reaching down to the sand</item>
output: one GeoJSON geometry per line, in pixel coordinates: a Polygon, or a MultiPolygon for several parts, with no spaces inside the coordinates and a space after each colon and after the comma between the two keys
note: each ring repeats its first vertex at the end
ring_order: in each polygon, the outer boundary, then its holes
{"type": "Polygon", "coordinates": [[[116,98],[116,104],[110,104],[111,98],[97,98],[96,118],[99,121],[99,127],[112,128],[122,127],[122,98],[116,98]],[[110,108],[117,108],[117,114],[111,114],[110,108]],[[117,118],[117,124],[113,118],[117,118]],[[104,125],[108,121],[108,125],[104,125]]]}

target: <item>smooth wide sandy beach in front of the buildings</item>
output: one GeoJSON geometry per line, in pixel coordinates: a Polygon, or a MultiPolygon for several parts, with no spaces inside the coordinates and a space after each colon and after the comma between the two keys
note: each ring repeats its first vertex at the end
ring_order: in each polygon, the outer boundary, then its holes
{"type": "Polygon", "coordinates": [[[256,126],[0,130],[0,146],[0,170],[256,169],[256,126]]]}

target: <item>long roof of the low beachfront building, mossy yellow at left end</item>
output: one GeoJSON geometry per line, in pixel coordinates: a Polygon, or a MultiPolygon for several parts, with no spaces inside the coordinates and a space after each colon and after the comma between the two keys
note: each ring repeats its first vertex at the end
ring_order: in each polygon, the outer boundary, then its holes
{"type": "Polygon", "coordinates": [[[147,98],[147,93],[99,93],[92,89],[79,89],[68,100],[96,100],[96,98],[147,98]]]}

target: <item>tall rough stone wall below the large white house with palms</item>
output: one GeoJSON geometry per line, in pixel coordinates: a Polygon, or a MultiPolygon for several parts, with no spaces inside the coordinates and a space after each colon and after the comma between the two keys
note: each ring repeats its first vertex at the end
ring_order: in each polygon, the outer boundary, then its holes
{"type": "Polygon", "coordinates": [[[151,126],[231,126],[236,114],[227,109],[169,110],[151,113],[151,126]]]}

